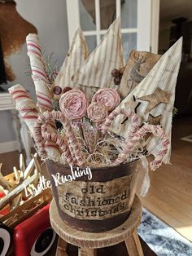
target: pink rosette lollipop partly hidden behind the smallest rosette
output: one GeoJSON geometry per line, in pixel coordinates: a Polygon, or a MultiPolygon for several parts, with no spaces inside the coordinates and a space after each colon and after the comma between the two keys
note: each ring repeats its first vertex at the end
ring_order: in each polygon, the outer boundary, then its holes
{"type": "Polygon", "coordinates": [[[100,89],[95,93],[92,102],[103,104],[111,112],[120,104],[120,95],[116,89],[100,89]]]}

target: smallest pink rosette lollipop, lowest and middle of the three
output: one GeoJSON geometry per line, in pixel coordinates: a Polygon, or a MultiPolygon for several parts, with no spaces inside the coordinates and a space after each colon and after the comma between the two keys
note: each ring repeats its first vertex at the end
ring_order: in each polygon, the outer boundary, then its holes
{"type": "Polygon", "coordinates": [[[94,121],[96,124],[100,124],[107,118],[107,108],[105,108],[102,104],[97,104],[93,102],[89,104],[87,108],[87,115],[91,121],[94,121]]]}

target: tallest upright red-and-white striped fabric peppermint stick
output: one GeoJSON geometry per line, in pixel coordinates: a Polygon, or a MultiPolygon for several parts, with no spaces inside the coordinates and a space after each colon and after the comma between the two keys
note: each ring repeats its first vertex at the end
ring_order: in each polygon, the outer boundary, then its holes
{"type": "Polygon", "coordinates": [[[42,59],[41,46],[37,34],[29,33],[27,38],[28,57],[32,68],[32,78],[35,85],[37,104],[41,112],[52,110],[50,100],[50,81],[46,75],[45,63],[42,59]]]}

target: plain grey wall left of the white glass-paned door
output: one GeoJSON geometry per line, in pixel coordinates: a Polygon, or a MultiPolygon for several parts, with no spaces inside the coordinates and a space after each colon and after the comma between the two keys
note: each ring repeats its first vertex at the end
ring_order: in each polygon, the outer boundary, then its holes
{"type": "MultiPolygon", "coordinates": [[[[68,20],[65,0],[15,0],[17,11],[25,20],[32,23],[38,30],[43,50],[47,54],[54,52],[54,59],[58,60],[59,67],[63,64],[68,51],[68,20]]],[[[20,83],[35,98],[33,82],[25,73],[29,62],[26,45],[19,54],[11,55],[11,68],[16,75],[15,85],[20,83]]],[[[12,128],[12,118],[9,111],[0,112],[0,149],[1,143],[15,140],[15,132],[12,128]]]]}

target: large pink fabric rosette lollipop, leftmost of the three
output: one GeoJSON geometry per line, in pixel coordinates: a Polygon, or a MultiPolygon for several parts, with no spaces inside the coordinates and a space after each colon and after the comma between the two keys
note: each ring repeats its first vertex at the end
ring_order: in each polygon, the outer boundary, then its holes
{"type": "Polygon", "coordinates": [[[61,112],[69,120],[77,121],[85,117],[88,100],[79,89],[68,90],[59,100],[61,112]]]}

